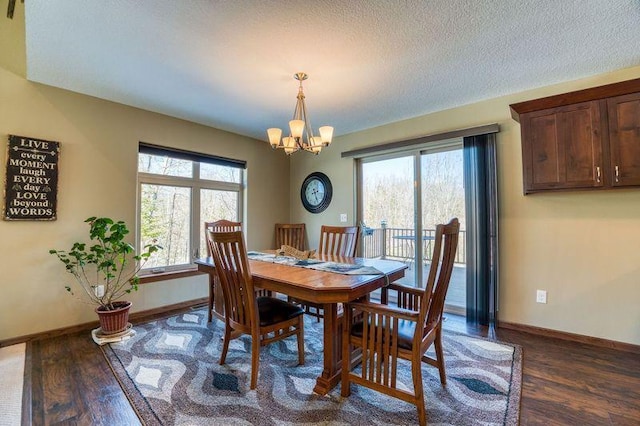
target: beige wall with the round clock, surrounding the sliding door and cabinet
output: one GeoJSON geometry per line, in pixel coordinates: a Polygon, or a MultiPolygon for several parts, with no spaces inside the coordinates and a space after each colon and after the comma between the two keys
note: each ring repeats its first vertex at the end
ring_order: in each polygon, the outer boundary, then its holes
{"type": "MultiPolygon", "coordinates": [[[[640,189],[524,196],[520,126],[509,104],[640,77],[640,67],[479,102],[338,137],[319,156],[295,154],[291,220],[307,223],[311,247],[320,225],[354,223],[354,161],[343,151],[498,123],[499,319],[640,344],[640,189]],[[311,172],[332,180],[321,214],[307,213],[300,185],[311,172]],[[548,303],[535,302],[536,289],[548,303]]],[[[339,132],[340,129],[337,129],[339,132]]]]}

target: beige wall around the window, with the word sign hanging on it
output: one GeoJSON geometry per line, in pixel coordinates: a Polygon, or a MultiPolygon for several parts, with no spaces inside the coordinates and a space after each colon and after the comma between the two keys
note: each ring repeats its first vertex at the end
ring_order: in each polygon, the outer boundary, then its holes
{"type": "MultiPolygon", "coordinates": [[[[6,10],[6,1],[0,6],[6,10]]],[[[48,250],[84,240],[89,216],[134,228],[139,141],[246,160],[247,245],[271,246],[273,224],[289,219],[289,198],[263,182],[288,180],[286,157],[262,141],[28,82],[22,13],[18,3],[14,20],[0,25],[0,173],[7,135],[59,141],[58,219],[0,220],[0,341],[97,319],[92,306],[67,294],[70,276],[48,250]]],[[[144,284],[130,299],[141,311],[207,294],[206,280],[196,277],[144,284]]]]}

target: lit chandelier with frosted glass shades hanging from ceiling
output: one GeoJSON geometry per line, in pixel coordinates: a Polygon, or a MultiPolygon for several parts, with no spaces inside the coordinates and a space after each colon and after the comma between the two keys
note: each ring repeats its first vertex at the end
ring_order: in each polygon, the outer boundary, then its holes
{"type": "Polygon", "coordinates": [[[289,136],[280,139],[282,129],[267,129],[269,143],[271,148],[283,148],[286,154],[292,154],[300,149],[314,154],[319,154],[323,147],[329,146],[333,138],[333,127],[320,127],[320,136],[313,135],[313,129],[307,116],[307,106],[304,103],[304,92],[302,91],[302,82],[309,78],[303,72],[294,74],[293,76],[300,82],[298,88],[298,100],[296,101],[296,109],[293,112],[293,119],[289,121],[289,136]]]}

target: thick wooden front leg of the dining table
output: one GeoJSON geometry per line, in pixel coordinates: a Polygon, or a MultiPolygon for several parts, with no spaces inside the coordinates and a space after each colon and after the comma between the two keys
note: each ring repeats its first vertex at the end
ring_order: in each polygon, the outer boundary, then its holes
{"type": "Polygon", "coordinates": [[[342,362],[342,315],[338,305],[325,304],[324,308],[324,369],[316,380],[313,391],[326,395],[340,382],[342,362]]]}

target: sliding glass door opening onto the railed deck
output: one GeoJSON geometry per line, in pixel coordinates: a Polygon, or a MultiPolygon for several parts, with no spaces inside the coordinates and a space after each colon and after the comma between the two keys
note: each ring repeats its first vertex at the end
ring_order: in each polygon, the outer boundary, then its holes
{"type": "Polygon", "coordinates": [[[457,217],[460,245],[446,310],[464,315],[466,306],[465,204],[462,142],[437,149],[358,161],[359,217],[364,257],[405,262],[400,281],[424,287],[431,264],[435,225],[457,217]]]}

